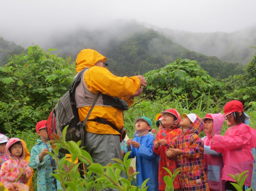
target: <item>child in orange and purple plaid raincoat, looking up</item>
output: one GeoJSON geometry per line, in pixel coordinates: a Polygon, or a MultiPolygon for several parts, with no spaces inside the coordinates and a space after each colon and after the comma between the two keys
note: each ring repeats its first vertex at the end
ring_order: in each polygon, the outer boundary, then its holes
{"type": "Polygon", "coordinates": [[[210,191],[204,171],[203,141],[198,135],[203,130],[203,121],[193,113],[182,117],[183,134],[172,139],[166,156],[175,158],[181,168],[178,177],[182,191],[210,191]]]}

